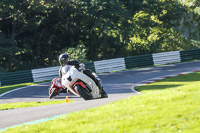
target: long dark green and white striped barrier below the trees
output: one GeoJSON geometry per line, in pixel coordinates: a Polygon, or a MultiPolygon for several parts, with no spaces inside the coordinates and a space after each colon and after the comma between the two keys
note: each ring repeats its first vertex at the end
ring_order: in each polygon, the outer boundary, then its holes
{"type": "MultiPolygon", "coordinates": [[[[153,53],[148,55],[94,61],[85,63],[85,65],[86,69],[90,69],[93,72],[102,73],[140,66],[168,64],[194,59],[200,59],[200,49],[153,53]]],[[[59,68],[60,66],[56,66],[26,71],[1,73],[0,86],[51,80],[58,76],[59,68]]]]}

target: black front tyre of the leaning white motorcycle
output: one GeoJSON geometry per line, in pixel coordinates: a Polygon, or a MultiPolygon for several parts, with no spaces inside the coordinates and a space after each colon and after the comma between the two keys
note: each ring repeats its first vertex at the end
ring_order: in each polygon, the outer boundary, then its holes
{"type": "Polygon", "coordinates": [[[92,95],[90,92],[85,90],[85,88],[82,88],[80,85],[76,85],[74,87],[75,91],[79,93],[79,95],[84,99],[84,100],[90,100],[92,99],[92,95]]]}

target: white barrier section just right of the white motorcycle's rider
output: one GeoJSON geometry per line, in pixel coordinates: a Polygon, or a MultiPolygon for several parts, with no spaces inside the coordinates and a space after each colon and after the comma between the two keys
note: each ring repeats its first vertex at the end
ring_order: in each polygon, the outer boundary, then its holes
{"type": "Polygon", "coordinates": [[[97,73],[126,69],[124,58],[95,61],[94,66],[97,73]]]}

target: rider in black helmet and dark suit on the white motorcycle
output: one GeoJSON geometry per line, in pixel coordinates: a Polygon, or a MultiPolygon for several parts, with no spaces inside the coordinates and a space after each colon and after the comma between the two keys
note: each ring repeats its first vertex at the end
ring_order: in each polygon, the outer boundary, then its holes
{"type": "MultiPolygon", "coordinates": [[[[92,73],[92,71],[85,69],[85,64],[80,63],[77,60],[69,60],[69,56],[67,53],[63,53],[59,56],[59,63],[61,65],[60,70],[59,70],[59,77],[62,78],[62,68],[65,65],[73,65],[75,66],[76,69],[78,69],[79,71],[83,71],[84,74],[86,74],[87,76],[89,76],[92,80],[94,80],[94,82],[96,83],[96,85],[99,87],[101,93],[102,93],[102,98],[106,98],[108,97],[108,95],[106,94],[106,92],[104,91],[103,87],[102,87],[102,83],[101,83],[101,79],[95,74],[92,73]]],[[[64,90],[63,90],[64,91],[64,90]]]]}

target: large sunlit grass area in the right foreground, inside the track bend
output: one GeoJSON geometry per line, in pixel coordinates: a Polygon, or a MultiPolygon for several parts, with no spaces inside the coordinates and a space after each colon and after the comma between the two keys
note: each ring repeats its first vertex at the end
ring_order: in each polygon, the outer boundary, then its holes
{"type": "Polygon", "coordinates": [[[200,73],[168,78],[137,88],[141,95],[77,111],[55,120],[5,132],[198,133],[200,73]]]}

